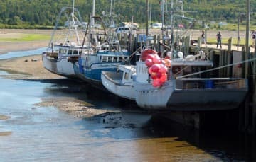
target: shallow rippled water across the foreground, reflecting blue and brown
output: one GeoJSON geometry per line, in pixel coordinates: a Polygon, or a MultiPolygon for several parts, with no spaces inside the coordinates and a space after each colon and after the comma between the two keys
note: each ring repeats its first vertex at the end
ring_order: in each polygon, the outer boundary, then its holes
{"type": "Polygon", "coordinates": [[[70,93],[58,81],[11,80],[3,75],[8,73],[0,72],[0,161],[256,161],[255,137],[200,131],[122,108],[122,124],[110,125],[99,116],[74,117],[35,104],[66,96],[83,98],[100,109],[120,110],[120,105],[112,95],[90,87],[70,93]],[[144,121],[137,125],[134,118],[144,121]]]}

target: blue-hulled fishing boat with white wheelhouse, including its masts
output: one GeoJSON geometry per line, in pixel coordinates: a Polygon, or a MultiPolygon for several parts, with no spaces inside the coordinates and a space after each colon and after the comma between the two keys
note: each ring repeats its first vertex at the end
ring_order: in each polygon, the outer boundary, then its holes
{"type": "MultiPolygon", "coordinates": [[[[110,9],[110,16],[114,16],[110,9]]],[[[94,13],[92,13],[92,29],[95,25],[94,13]]],[[[102,38],[100,47],[85,49],[80,54],[78,62],[73,64],[75,74],[96,88],[104,88],[102,86],[101,73],[102,71],[117,71],[117,66],[124,64],[129,58],[130,52],[127,49],[122,49],[117,38],[115,28],[112,28],[114,20],[110,18],[109,23],[102,23],[106,27],[105,37],[102,38]]],[[[104,22],[104,21],[102,21],[104,22]]],[[[90,31],[91,35],[96,32],[90,31]]]]}

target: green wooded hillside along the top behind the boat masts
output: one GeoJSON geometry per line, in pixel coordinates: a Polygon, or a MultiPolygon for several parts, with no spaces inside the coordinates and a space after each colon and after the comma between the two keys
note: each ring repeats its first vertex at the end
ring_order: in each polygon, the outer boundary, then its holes
{"type": "MultiPolygon", "coordinates": [[[[112,1],[114,2],[112,10],[122,21],[131,21],[132,16],[134,16],[134,22],[142,24],[146,21],[145,0],[112,1]]],[[[149,0],[150,2],[152,2],[151,21],[160,21],[159,0],[149,0]]],[[[246,8],[245,0],[186,0],[183,1],[183,11],[188,12],[181,13],[182,5],[176,2],[177,0],[174,0],[176,14],[183,14],[205,23],[210,21],[236,23],[238,16],[240,13],[245,13],[246,8]]],[[[21,28],[53,26],[61,8],[72,6],[72,3],[72,0],[0,0],[0,28],[11,28],[12,25],[14,25],[14,28],[17,26],[21,26],[21,28]]],[[[171,0],[168,0],[167,3],[167,9],[170,10],[171,0]]],[[[75,7],[79,8],[83,20],[87,21],[92,11],[92,0],[75,0],[75,7]]],[[[256,25],[255,7],[256,1],[251,1],[252,25],[256,25]]],[[[96,0],[96,14],[102,16],[102,11],[109,13],[110,0],[96,0]]],[[[165,17],[168,21],[168,15],[165,17]]]]}

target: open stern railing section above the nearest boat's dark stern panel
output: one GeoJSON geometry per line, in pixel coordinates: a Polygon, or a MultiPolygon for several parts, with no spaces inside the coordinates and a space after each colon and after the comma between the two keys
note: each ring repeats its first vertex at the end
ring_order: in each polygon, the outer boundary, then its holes
{"type": "Polygon", "coordinates": [[[183,78],[176,79],[176,89],[247,89],[247,79],[183,78]]]}

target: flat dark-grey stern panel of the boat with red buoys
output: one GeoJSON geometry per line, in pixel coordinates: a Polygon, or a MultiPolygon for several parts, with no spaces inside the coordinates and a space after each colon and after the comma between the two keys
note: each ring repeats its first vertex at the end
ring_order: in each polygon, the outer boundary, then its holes
{"type": "Polygon", "coordinates": [[[228,110],[238,108],[246,94],[246,89],[176,90],[171,93],[166,108],[183,111],[228,110]]]}

